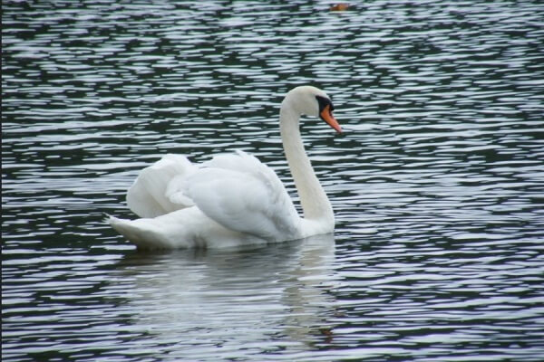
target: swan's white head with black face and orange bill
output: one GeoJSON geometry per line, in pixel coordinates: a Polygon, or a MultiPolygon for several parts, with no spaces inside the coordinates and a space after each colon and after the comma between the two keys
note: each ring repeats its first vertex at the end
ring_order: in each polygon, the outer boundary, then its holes
{"type": "Polygon", "coordinates": [[[308,85],[296,87],[289,90],[283,105],[290,107],[299,115],[319,117],[325,120],[336,132],[342,133],[338,121],[333,116],[333,110],[335,110],[333,102],[323,90],[308,85]]]}

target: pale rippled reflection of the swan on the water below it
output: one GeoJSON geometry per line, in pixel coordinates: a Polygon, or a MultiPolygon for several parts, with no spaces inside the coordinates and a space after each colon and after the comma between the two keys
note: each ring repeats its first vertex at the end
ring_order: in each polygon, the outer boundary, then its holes
{"type": "Polygon", "coordinates": [[[118,280],[131,281],[121,308],[132,313],[131,329],[181,354],[208,345],[304,348],[330,335],[334,253],[334,236],[321,235],[253,251],[132,254],[121,263],[118,280]]]}

